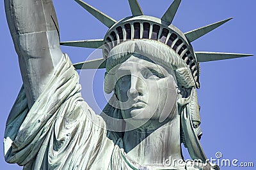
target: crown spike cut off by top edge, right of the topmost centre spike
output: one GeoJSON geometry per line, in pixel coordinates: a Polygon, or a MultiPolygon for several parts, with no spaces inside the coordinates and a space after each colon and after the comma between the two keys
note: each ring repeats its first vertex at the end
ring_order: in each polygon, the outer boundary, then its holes
{"type": "Polygon", "coordinates": [[[167,22],[167,24],[172,24],[173,18],[175,17],[175,14],[179,8],[181,0],[174,0],[173,3],[170,5],[168,10],[164,13],[161,20],[164,22],[167,22]]]}

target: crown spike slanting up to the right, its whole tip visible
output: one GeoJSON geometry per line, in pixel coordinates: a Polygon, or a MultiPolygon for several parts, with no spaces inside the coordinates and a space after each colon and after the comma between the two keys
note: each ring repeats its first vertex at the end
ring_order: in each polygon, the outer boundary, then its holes
{"type": "Polygon", "coordinates": [[[216,22],[214,24],[206,25],[205,27],[200,27],[198,29],[194,29],[192,31],[186,32],[185,36],[188,39],[189,42],[195,41],[196,39],[200,38],[201,36],[204,36],[208,32],[211,32],[212,30],[216,29],[217,27],[220,27],[220,25],[225,24],[232,18],[228,18],[227,20],[221,20],[220,22],[216,22]]]}

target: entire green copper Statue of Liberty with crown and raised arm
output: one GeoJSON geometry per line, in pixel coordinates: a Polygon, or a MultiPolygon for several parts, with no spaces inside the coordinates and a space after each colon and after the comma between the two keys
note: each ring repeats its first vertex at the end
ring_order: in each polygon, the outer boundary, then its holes
{"type": "Polygon", "coordinates": [[[102,48],[104,58],[73,65],[60,50],[51,0],[4,0],[23,80],[6,122],[6,161],[24,169],[219,169],[199,141],[199,62],[249,55],[195,52],[191,42],[230,18],[183,33],[172,25],[180,0],[162,18],[129,0],[132,16],[118,22],[75,1],[109,30],[104,39],[61,43],[102,48]],[[113,96],[96,115],[76,69],[100,68],[113,96]]]}

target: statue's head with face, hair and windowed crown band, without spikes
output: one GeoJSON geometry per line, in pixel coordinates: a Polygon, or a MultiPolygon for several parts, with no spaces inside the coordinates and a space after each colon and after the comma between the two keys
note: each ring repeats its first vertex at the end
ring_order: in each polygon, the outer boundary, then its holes
{"type": "MultiPolygon", "coordinates": [[[[157,128],[192,101],[198,62],[179,29],[154,17],[128,17],[111,27],[104,41],[104,90],[114,92],[118,118],[135,128],[157,128]]],[[[193,102],[199,114],[197,99],[193,102]]],[[[200,124],[199,115],[194,122],[200,124]]]]}

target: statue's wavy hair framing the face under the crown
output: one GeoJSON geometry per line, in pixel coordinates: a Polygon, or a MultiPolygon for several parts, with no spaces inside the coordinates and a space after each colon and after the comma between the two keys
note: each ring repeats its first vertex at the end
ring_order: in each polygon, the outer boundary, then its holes
{"type": "MultiPolygon", "coordinates": [[[[122,64],[125,60],[129,59],[131,55],[139,54],[148,59],[152,60],[156,64],[163,66],[164,68],[172,69],[173,78],[175,79],[180,94],[184,97],[191,96],[188,101],[189,111],[191,113],[191,117],[193,120],[193,127],[195,130],[200,129],[200,115],[199,115],[199,106],[197,101],[197,94],[195,89],[195,81],[191,74],[191,70],[189,66],[180,58],[180,56],[169,46],[150,39],[135,39],[130,41],[125,41],[120,43],[120,45],[115,46],[108,55],[108,59],[106,62],[106,74],[104,79],[104,91],[106,93],[111,93],[115,90],[115,69],[118,64],[122,64]],[[193,90],[193,92],[191,92],[193,90]]],[[[124,132],[125,122],[122,121],[122,113],[118,108],[118,102],[116,102],[115,94],[109,101],[109,103],[105,106],[101,115],[104,118],[107,127],[111,125],[116,125],[116,120],[121,122],[118,125],[118,132],[116,132],[115,128],[108,127],[108,136],[111,139],[122,138],[124,132]],[[116,107],[117,106],[117,107],[116,107]]],[[[178,103],[179,107],[179,103],[178,103]]],[[[179,113],[180,114],[180,113],[179,113]]],[[[199,131],[197,134],[201,134],[199,131]]],[[[181,130],[181,140],[185,143],[184,138],[182,138],[182,130],[181,130]]]]}

